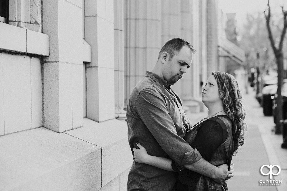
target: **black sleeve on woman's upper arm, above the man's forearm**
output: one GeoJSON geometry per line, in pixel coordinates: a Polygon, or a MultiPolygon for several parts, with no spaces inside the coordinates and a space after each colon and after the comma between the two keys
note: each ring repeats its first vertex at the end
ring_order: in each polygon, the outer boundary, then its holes
{"type": "Polygon", "coordinates": [[[208,120],[199,128],[194,141],[190,144],[197,148],[201,156],[210,161],[211,155],[223,141],[223,131],[219,123],[208,120]]]}

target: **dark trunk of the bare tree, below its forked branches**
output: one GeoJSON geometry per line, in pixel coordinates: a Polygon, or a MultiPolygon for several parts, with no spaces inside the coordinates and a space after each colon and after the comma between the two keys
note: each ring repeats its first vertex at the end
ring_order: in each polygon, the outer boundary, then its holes
{"type": "Polygon", "coordinates": [[[278,87],[277,87],[277,108],[276,108],[276,126],[275,126],[275,134],[280,134],[282,132],[282,123],[280,123],[280,120],[282,120],[283,115],[282,115],[282,95],[281,95],[281,89],[282,89],[282,84],[283,84],[283,54],[278,53],[276,54],[276,59],[277,59],[277,73],[278,73],[278,87]]]}

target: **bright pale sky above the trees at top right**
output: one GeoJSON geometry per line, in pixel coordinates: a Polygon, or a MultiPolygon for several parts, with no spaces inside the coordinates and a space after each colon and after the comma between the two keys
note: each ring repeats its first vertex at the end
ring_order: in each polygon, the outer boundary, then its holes
{"type": "MultiPolygon", "coordinates": [[[[287,7],[287,0],[269,0],[270,7],[280,7],[284,5],[287,7]]],[[[242,26],[247,13],[254,13],[258,11],[264,11],[267,7],[268,0],[218,0],[219,8],[223,13],[236,13],[236,21],[238,26],[242,26]]],[[[287,9],[287,8],[286,8],[287,9]]]]}

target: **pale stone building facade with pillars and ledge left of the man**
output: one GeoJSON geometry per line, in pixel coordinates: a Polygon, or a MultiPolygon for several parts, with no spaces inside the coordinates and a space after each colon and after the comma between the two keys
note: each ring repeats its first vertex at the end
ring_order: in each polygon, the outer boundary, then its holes
{"type": "Polygon", "coordinates": [[[115,2],[10,1],[16,19],[0,23],[3,190],[126,190],[133,159],[126,122],[114,119],[115,96],[124,108],[115,2]]]}

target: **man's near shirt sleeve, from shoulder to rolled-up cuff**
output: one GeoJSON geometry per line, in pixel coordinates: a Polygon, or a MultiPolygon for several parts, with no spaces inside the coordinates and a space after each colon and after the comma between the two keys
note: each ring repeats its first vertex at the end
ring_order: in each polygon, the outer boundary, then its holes
{"type": "Polygon", "coordinates": [[[182,137],[177,135],[165,97],[157,90],[147,88],[139,92],[134,103],[134,110],[161,148],[177,164],[192,164],[202,158],[197,149],[193,149],[182,137]]]}

